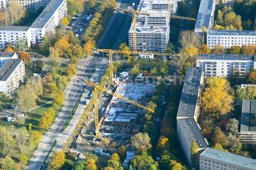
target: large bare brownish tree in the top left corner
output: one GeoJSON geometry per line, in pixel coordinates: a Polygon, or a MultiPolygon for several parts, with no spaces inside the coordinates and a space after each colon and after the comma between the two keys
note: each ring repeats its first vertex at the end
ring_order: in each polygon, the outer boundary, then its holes
{"type": "Polygon", "coordinates": [[[0,24],[6,26],[13,26],[20,22],[21,18],[26,15],[26,8],[18,5],[16,2],[10,2],[6,10],[0,16],[0,24]]]}

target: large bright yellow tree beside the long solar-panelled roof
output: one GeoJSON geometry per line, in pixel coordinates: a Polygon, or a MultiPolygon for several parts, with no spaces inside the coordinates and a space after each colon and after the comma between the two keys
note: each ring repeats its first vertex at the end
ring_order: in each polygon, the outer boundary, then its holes
{"type": "Polygon", "coordinates": [[[234,110],[232,105],[234,99],[229,94],[231,93],[229,82],[224,78],[214,77],[208,78],[207,83],[206,91],[202,96],[202,105],[205,105],[205,111],[211,112],[213,116],[220,118],[234,110]]]}

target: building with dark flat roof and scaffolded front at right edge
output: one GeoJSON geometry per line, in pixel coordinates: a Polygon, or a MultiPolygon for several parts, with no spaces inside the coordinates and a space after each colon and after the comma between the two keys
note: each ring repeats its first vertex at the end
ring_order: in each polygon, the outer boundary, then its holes
{"type": "MultiPolygon", "coordinates": [[[[256,145],[256,124],[254,123],[256,112],[256,100],[243,100],[241,127],[238,137],[242,143],[256,145]]],[[[255,164],[256,167],[256,164],[255,164]]]]}

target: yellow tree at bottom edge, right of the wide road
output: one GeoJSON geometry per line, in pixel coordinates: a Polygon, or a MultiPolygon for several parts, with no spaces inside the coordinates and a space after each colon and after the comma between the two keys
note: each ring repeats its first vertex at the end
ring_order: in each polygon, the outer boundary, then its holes
{"type": "Polygon", "coordinates": [[[59,169],[65,163],[65,153],[55,152],[52,156],[50,163],[48,164],[48,170],[59,169]]]}

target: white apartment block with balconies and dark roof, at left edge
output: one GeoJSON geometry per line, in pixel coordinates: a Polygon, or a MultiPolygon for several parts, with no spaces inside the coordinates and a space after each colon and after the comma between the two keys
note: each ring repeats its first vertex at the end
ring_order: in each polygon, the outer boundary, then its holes
{"type": "Polygon", "coordinates": [[[12,96],[25,76],[23,60],[8,59],[0,68],[0,91],[4,91],[9,96],[12,96]]]}

